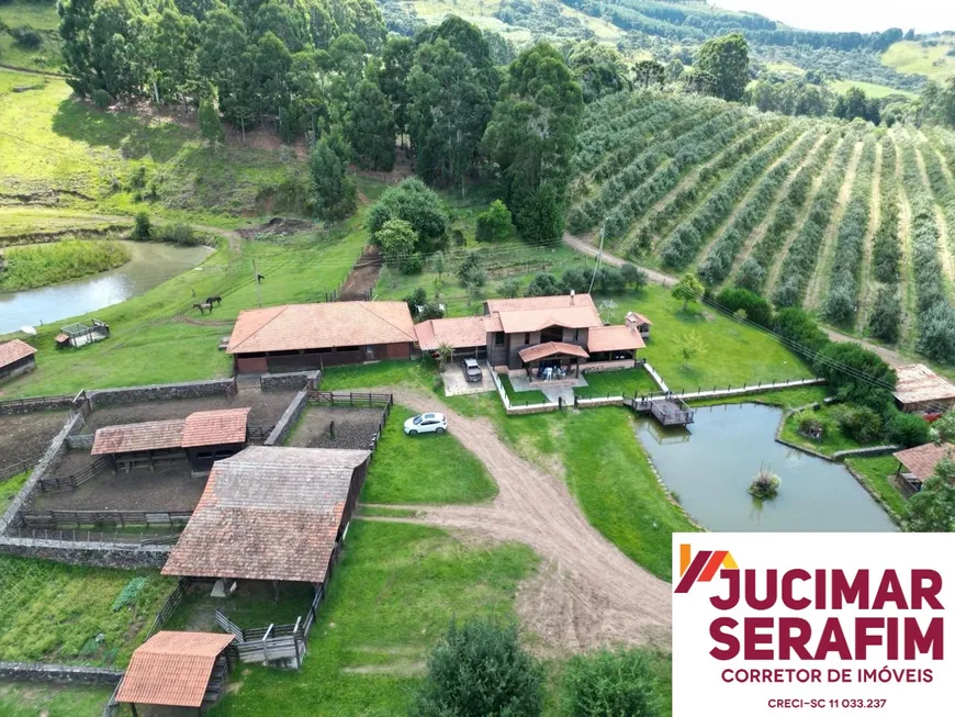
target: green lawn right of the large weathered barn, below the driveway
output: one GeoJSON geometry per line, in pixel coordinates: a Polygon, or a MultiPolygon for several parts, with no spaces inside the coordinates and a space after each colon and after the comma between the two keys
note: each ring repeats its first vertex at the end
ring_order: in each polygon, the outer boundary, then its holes
{"type": "Polygon", "coordinates": [[[415,525],[356,520],[301,671],[246,666],[215,717],[406,714],[428,648],[452,617],[513,619],[537,563],[513,544],[468,546],[415,525]]]}

